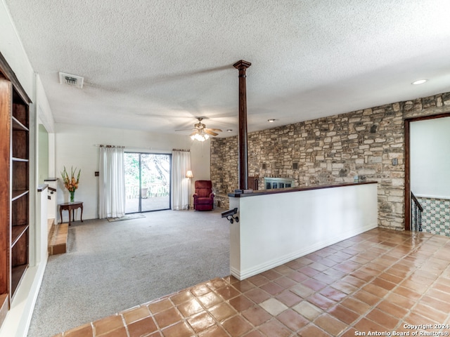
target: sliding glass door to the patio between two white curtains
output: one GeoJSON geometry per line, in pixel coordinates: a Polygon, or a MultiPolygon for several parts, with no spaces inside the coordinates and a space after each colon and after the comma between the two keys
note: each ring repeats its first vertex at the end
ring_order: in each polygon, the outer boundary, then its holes
{"type": "Polygon", "coordinates": [[[125,213],[170,209],[171,156],[125,153],[125,213]]]}

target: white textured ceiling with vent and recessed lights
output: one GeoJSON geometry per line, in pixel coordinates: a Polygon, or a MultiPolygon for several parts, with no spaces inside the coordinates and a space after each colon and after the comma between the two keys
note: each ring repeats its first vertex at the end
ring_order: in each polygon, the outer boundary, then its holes
{"type": "Polygon", "coordinates": [[[450,91],[449,0],[5,2],[57,123],[236,135],[241,59],[249,131],[450,91]]]}

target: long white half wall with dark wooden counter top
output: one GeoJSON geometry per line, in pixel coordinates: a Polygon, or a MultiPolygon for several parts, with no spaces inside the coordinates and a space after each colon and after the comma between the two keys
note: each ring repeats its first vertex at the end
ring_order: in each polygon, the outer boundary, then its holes
{"type": "Polygon", "coordinates": [[[246,279],[378,226],[377,183],[229,194],[230,269],[246,279]]]}

